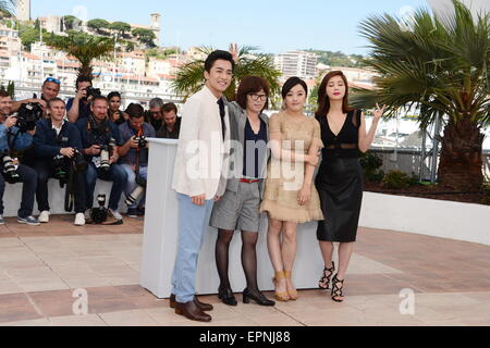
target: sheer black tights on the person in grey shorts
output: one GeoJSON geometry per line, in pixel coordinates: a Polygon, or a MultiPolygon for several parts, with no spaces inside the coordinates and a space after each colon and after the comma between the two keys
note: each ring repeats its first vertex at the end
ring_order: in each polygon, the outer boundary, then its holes
{"type": "MultiPolygon", "coordinates": [[[[229,249],[233,239],[233,231],[219,231],[216,241],[216,264],[220,275],[220,288],[231,288],[228,277],[229,249]]],[[[247,288],[250,291],[258,291],[257,285],[257,252],[256,246],[258,233],[242,232],[242,266],[247,279],[247,288]]]]}

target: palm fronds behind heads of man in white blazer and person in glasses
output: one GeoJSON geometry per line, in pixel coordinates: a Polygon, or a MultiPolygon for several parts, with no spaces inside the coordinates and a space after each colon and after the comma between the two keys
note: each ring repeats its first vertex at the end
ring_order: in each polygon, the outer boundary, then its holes
{"type": "MultiPolygon", "coordinates": [[[[231,86],[224,92],[229,100],[236,99],[236,89],[240,82],[245,76],[261,76],[270,85],[271,96],[280,90],[279,77],[281,73],[275,70],[273,59],[269,54],[256,53],[255,47],[245,46],[238,50],[238,61],[235,66],[231,86]]],[[[203,55],[209,55],[213,49],[201,47],[199,51],[203,55]]],[[[182,66],[177,73],[176,79],[173,82],[174,91],[187,99],[191,95],[197,92],[205,84],[205,61],[199,59],[182,66]]]]}

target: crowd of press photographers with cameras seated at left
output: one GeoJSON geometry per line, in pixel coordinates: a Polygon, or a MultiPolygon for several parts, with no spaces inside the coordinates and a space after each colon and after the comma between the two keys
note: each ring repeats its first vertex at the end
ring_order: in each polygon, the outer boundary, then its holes
{"type": "Polygon", "coordinates": [[[76,80],[75,97],[66,102],[58,97],[60,88],[60,80],[48,77],[40,98],[19,101],[0,90],[0,225],[5,224],[5,183],[22,184],[19,223],[49,223],[50,178],[65,190],[64,209],[75,212],[76,226],[122,224],[123,194],[127,217],[144,217],[147,138],[179,138],[176,105],[155,98],[148,111],[136,103],[122,111],[120,92],[105,97],[83,76],[76,80]],[[97,178],[112,182],[112,189],[108,202],[98,195],[94,207],[97,178]]]}

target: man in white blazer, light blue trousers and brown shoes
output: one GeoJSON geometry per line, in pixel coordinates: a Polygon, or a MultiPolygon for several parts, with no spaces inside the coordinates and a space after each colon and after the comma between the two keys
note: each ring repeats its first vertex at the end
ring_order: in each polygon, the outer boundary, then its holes
{"type": "Polygon", "coordinates": [[[206,85],[182,110],[181,135],[173,174],[179,196],[179,246],[172,275],[170,306],[175,313],[209,322],[212,306],[195,295],[196,269],[215,201],[226,186],[225,165],[230,120],[223,92],[230,87],[235,62],[230,52],[215,51],[205,62],[206,85]]]}

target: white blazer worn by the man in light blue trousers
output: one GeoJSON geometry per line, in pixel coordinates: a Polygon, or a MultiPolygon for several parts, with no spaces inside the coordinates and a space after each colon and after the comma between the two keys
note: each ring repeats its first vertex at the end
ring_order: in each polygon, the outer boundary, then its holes
{"type": "Polygon", "coordinates": [[[208,87],[187,99],[182,110],[181,134],[172,188],[189,197],[206,195],[206,200],[223,196],[230,154],[230,116],[225,107],[226,133],[223,142],[218,98],[208,87]]]}

